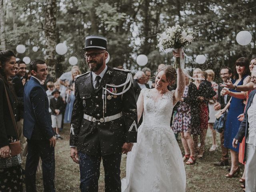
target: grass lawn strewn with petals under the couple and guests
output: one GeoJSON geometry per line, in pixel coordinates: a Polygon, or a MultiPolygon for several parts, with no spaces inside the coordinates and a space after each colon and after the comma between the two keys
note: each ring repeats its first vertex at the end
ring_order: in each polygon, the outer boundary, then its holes
{"type": "MultiPolygon", "coordinates": [[[[65,127],[64,131],[61,132],[63,140],[58,140],[55,149],[55,161],[56,161],[56,172],[55,172],[55,186],[56,191],[63,192],[78,192],[80,184],[79,166],[74,163],[70,158],[69,148],[69,128],[65,127]]],[[[219,142],[219,137],[217,134],[219,142]]],[[[178,141],[182,148],[180,140],[178,141]]],[[[204,157],[200,160],[196,160],[194,165],[185,165],[187,185],[186,192],[242,192],[240,188],[239,178],[240,177],[226,178],[224,175],[228,173],[228,166],[217,167],[213,165],[220,159],[220,148],[216,152],[209,152],[211,147],[211,137],[208,130],[206,138],[206,152],[204,157]]],[[[183,148],[182,148],[183,150],[183,148]]],[[[121,178],[125,176],[126,166],[126,155],[122,156],[121,163],[121,178]]],[[[240,165],[243,170],[243,166],[240,165]]],[[[37,172],[37,190],[43,191],[43,180],[42,170],[37,172]]],[[[104,170],[101,164],[100,180],[99,180],[99,192],[104,192],[104,170]]]]}

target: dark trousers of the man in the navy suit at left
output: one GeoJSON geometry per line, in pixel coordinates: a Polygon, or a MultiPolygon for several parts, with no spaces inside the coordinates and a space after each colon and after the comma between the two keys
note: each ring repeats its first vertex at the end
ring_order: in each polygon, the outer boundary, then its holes
{"type": "Polygon", "coordinates": [[[55,192],[54,147],[50,146],[49,140],[28,140],[28,156],[25,168],[26,192],[36,192],[36,169],[39,157],[42,160],[44,192],[55,192]]]}

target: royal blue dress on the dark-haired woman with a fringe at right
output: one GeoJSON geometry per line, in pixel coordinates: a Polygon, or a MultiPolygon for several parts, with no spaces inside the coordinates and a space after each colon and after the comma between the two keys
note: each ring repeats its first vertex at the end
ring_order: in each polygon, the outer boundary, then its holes
{"type": "MultiPolygon", "coordinates": [[[[248,75],[244,76],[241,81],[237,85],[242,85],[244,78],[246,78],[248,75]]],[[[232,80],[232,83],[234,84],[236,80],[232,80]]],[[[240,92],[236,90],[230,90],[232,92],[240,92]]],[[[230,107],[228,109],[228,117],[226,120],[225,124],[225,130],[224,130],[224,147],[228,149],[232,149],[235,152],[239,151],[239,143],[237,148],[233,148],[232,142],[234,137],[236,136],[239,126],[240,126],[240,121],[238,121],[238,116],[242,113],[244,113],[244,107],[245,104],[243,103],[243,99],[238,99],[232,97],[232,100],[230,102],[230,107]]]]}

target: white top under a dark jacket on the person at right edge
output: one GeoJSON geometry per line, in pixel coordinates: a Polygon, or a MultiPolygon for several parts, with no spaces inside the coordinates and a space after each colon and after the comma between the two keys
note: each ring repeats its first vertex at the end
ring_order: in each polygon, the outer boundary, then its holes
{"type": "Polygon", "coordinates": [[[252,99],[252,104],[247,110],[248,114],[248,137],[246,138],[246,143],[253,144],[256,146],[256,94],[252,99]]]}

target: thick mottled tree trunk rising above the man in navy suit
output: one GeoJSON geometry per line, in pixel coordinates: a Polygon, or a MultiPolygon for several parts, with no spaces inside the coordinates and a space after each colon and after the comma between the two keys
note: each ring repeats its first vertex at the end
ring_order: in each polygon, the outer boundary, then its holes
{"type": "Polygon", "coordinates": [[[57,0],[48,0],[44,20],[44,34],[46,39],[46,54],[44,60],[48,66],[49,75],[56,78],[55,72],[55,46],[56,46],[56,13],[57,0]]]}

